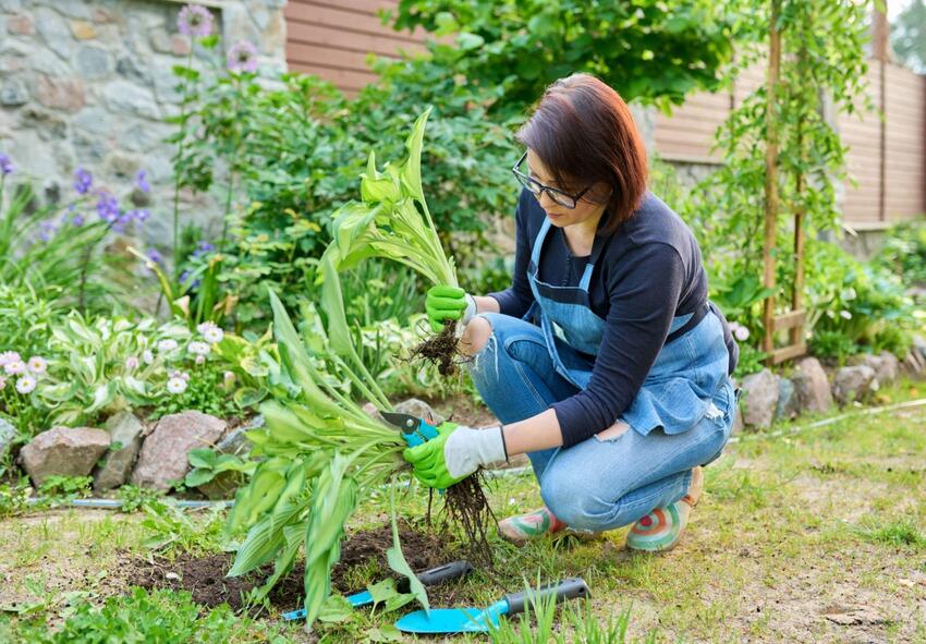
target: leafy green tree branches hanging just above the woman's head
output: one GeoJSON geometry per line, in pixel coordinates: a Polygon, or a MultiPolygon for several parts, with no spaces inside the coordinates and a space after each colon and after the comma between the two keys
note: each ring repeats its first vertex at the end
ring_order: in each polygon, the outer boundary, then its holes
{"type": "Polygon", "coordinates": [[[552,81],[589,72],[625,100],[682,102],[717,87],[732,53],[722,5],[707,0],[402,0],[397,29],[455,34],[429,44],[435,61],[477,87],[498,88],[500,110],[521,113],[552,81]]]}

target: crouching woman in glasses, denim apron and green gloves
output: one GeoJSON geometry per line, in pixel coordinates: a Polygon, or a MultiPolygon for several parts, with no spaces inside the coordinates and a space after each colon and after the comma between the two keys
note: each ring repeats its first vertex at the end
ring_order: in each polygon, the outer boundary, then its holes
{"type": "Polygon", "coordinates": [[[465,325],[461,351],[499,427],[444,424],[405,451],[443,488],[526,453],[545,507],[499,524],[514,542],[566,526],[634,524],[628,546],[674,546],[702,469],[733,425],[739,355],[691,230],[646,190],[646,155],[621,97],[575,74],[517,133],[511,288],[427,294],[431,325],[465,325]]]}

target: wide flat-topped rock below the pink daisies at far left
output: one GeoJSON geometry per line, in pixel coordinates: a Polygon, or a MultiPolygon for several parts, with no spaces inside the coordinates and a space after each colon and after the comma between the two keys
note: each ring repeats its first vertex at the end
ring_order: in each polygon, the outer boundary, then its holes
{"type": "Polygon", "coordinates": [[[109,434],[90,427],[52,427],[20,451],[26,474],[37,486],[51,475],[86,476],[109,449],[109,434]]]}

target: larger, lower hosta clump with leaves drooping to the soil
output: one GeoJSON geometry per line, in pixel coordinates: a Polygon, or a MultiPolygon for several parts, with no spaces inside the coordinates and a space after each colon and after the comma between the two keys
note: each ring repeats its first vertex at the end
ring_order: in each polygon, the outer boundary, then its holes
{"type": "MultiPolygon", "coordinates": [[[[247,528],[229,574],[273,561],[273,574],[257,594],[263,597],[291,570],[302,547],[310,624],[330,595],[331,567],[340,557],[345,523],[360,498],[406,467],[404,442],[398,430],[341,391],[341,380],[350,379],[377,405],[391,409],[354,350],[337,274],[322,287],[327,329],[308,329],[305,342],[276,294],[270,302],[281,359],[271,373],[278,400],[261,408],[266,426],[247,435],[253,454],[264,460],[237,491],[229,517],[231,534],[247,528]],[[327,365],[328,372],[319,365],[327,365]]],[[[402,557],[398,535],[389,560],[410,578],[413,595],[427,607],[427,595],[402,557]]]]}

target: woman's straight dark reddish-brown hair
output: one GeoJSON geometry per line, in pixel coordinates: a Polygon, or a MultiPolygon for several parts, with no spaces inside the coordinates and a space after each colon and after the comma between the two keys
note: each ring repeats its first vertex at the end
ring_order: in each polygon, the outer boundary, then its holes
{"type": "Polygon", "coordinates": [[[630,108],[590,74],[547,87],[516,138],[540,157],[560,190],[577,193],[598,182],[613,189],[601,234],[630,219],[646,192],[646,148],[630,108]]]}

